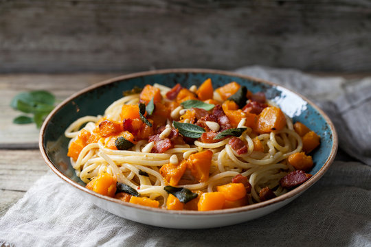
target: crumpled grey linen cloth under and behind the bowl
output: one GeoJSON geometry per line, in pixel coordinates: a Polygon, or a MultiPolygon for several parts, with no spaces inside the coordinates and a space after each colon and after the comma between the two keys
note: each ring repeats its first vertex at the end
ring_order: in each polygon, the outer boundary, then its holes
{"type": "Polygon", "coordinates": [[[371,78],[347,82],[265,67],[237,72],[300,91],[333,119],[339,153],[302,196],[243,224],[177,230],[108,213],[48,172],[1,218],[0,246],[371,246],[371,78]]]}

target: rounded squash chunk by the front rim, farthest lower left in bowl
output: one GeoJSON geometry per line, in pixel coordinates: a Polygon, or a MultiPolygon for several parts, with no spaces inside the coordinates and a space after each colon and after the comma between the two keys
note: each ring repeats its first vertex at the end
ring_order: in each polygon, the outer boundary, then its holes
{"type": "Polygon", "coordinates": [[[117,180],[115,177],[104,172],[99,174],[96,178],[93,178],[86,187],[103,196],[114,197],[116,193],[116,182],[117,180]]]}

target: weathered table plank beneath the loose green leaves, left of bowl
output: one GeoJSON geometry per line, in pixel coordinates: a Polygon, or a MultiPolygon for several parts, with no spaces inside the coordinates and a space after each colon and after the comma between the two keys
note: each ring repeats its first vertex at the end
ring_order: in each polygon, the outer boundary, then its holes
{"type": "Polygon", "coordinates": [[[0,148],[38,148],[39,130],[34,124],[12,123],[14,117],[22,114],[10,107],[10,101],[16,94],[43,89],[56,95],[60,102],[80,89],[117,75],[119,74],[0,75],[0,148]]]}

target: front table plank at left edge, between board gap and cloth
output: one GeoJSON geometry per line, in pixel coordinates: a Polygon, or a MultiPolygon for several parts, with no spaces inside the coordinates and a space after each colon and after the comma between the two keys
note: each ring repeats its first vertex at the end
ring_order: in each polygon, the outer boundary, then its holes
{"type": "Polygon", "coordinates": [[[49,168],[38,150],[0,150],[0,217],[49,168]]]}

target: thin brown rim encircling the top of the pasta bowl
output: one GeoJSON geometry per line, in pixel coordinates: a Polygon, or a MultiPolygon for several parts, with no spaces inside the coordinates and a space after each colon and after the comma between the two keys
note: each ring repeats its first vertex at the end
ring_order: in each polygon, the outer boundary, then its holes
{"type": "Polygon", "coordinates": [[[96,84],[88,86],[87,88],[82,89],[82,90],[74,93],[73,95],[67,97],[67,99],[63,100],[63,102],[58,104],[56,106],[56,108],[54,108],[54,110],[52,110],[52,112],[49,113],[49,115],[46,117],[45,121],[43,122],[43,126],[41,126],[39,139],[38,139],[38,145],[39,145],[39,149],[41,151],[41,155],[43,156],[43,159],[44,159],[45,163],[47,163],[49,168],[52,169],[54,174],[59,176],[61,179],[65,180],[65,182],[67,182],[69,185],[75,187],[76,189],[79,189],[80,191],[83,191],[85,193],[89,193],[91,196],[95,196],[97,198],[107,200],[109,202],[122,204],[122,206],[125,206],[125,207],[131,207],[131,208],[141,209],[141,210],[145,210],[145,211],[152,211],[154,213],[166,213],[166,214],[174,214],[174,215],[226,215],[226,214],[232,214],[232,213],[243,213],[243,212],[253,211],[255,209],[260,209],[260,208],[263,208],[263,207],[267,207],[271,204],[276,204],[278,202],[283,202],[284,200],[289,200],[290,198],[293,198],[294,196],[298,196],[298,195],[300,195],[300,193],[306,191],[306,189],[308,189],[313,184],[315,184],[317,182],[317,180],[319,180],[319,178],[321,178],[324,175],[324,173],[327,171],[328,167],[330,167],[331,163],[333,163],[333,161],[335,159],[336,152],[337,152],[337,147],[338,147],[338,137],[337,137],[337,132],[335,130],[335,126],[334,126],[333,122],[326,115],[326,113],[324,113],[323,110],[321,110],[318,106],[316,106],[310,99],[307,99],[306,97],[304,97],[300,93],[296,93],[295,91],[292,91],[291,89],[287,89],[285,86],[281,86],[280,84],[269,82],[267,80],[262,80],[260,78],[254,78],[254,77],[251,77],[249,75],[241,75],[241,74],[235,73],[235,72],[222,71],[222,70],[217,70],[217,69],[192,69],[192,68],[187,69],[187,68],[185,68],[185,69],[159,69],[159,70],[153,70],[153,71],[142,71],[142,72],[137,72],[137,73],[129,73],[127,75],[120,75],[120,76],[117,76],[115,78],[111,78],[109,80],[104,80],[102,82],[98,82],[96,84]],[[56,113],[58,112],[58,110],[60,110],[60,108],[63,108],[66,104],[71,102],[76,97],[79,97],[80,95],[82,95],[84,93],[87,93],[88,91],[92,91],[94,89],[97,89],[100,86],[104,86],[104,85],[111,84],[113,82],[117,82],[117,81],[121,81],[121,80],[128,80],[128,79],[139,78],[139,77],[148,76],[148,75],[159,75],[159,74],[167,74],[167,73],[214,73],[214,74],[218,74],[218,75],[233,76],[233,77],[242,78],[242,79],[246,79],[246,80],[251,80],[251,81],[262,83],[262,84],[269,84],[270,86],[280,86],[281,88],[283,88],[287,91],[290,91],[291,93],[293,93],[295,95],[298,95],[299,97],[302,97],[302,99],[304,99],[306,102],[308,102],[308,104],[311,104],[311,106],[313,108],[315,108],[315,110],[317,110],[317,112],[320,115],[322,115],[322,117],[324,117],[326,123],[330,127],[330,131],[331,131],[331,134],[332,134],[332,137],[333,137],[333,145],[331,147],[331,152],[330,152],[328,158],[324,162],[324,165],[322,165],[322,167],[311,177],[311,179],[307,180],[305,183],[296,187],[295,189],[292,189],[291,191],[288,191],[288,192],[282,194],[281,196],[278,196],[276,198],[273,198],[273,199],[270,199],[270,200],[267,200],[267,201],[264,201],[264,202],[249,204],[249,205],[246,205],[246,206],[243,206],[243,207],[237,207],[237,208],[232,208],[232,209],[219,209],[219,210],[214,210],[214,211],[175,211],[175,210],[168,210],[168,209],[160,209],[160,208],[157,209],[157,208],[152,208],[152,207],[145,207],[145,206],[142,206],[142,205],[139,205],[139,204],[123,202],[123,201],[115,199],[115,198],[110,198],[109,196],[100,195],[99,193],[95,193],[94,191],[91,191],[90,189],[82,187],[82,185],[76,183],[75,181],[73,181],[69,177],[67,177],[65,174],[60,172],[59,169],[52,163],[52,161],[47,156],[46,150],[43,146],[44,135],[45,135],[45,130],[46,130],[48,124],[49,124],[50,119],[52,119],[54,117],[54,115],[56,115],[56,113]]]}

